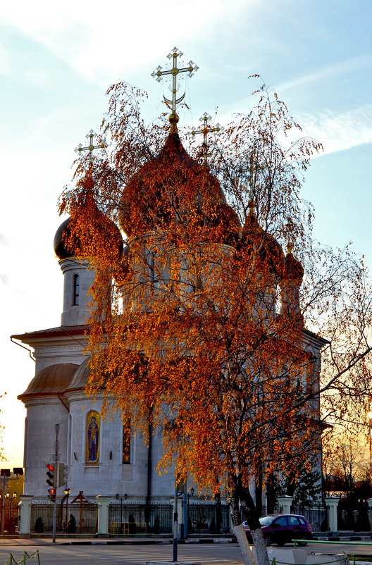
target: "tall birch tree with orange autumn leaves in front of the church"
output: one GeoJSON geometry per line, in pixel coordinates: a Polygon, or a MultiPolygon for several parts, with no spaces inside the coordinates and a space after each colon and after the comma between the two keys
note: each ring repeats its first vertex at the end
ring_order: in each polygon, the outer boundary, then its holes
{"type": "Polygon", "coordinates": [[[321,146],[292,142],[299,125],[265,86],[213,144],[189,142],[174,111],[146,125],[137,89],[109,94],[105,155],[77,162],[60,206],[68,244],[96,273],[87,392],[104,390],[145,437],[149,421],[161,428],[159,471],[174,464],[228,497],[252,564],[241,504],[268,564],[252,492],[311,466],[320,395],[340,414],[349,395],[370,392],[363,265],[311,239],[300,188],[321,146]]]}

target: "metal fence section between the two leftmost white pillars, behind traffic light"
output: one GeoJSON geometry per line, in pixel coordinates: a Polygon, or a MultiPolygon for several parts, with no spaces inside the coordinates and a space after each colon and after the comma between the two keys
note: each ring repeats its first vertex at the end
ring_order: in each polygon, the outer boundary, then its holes
{"type": "MultiPolygon", "coordinates": [[[[31,533],[52,533],[54,504],[31,505],[31,533]]],[[[98,504],[57,503],[56,531],[58,533],[97,533],[98,504]]]]}

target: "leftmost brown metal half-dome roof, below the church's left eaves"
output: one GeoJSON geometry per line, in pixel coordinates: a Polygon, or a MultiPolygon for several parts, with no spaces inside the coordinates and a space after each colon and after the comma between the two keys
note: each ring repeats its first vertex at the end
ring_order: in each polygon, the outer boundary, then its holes
{"type": "Polygon", "coordinates": [[[23,400],[34,396],[58,396],[70,385],[78,365],[58,363],[39,371],[25,392],[18,396],[23,400]]]}

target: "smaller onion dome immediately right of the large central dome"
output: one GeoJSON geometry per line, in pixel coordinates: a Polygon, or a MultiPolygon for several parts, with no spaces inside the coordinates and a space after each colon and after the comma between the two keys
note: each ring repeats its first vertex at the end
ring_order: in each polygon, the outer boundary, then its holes
{"type": "Polygon", "coordinates": [[[261,248],[258,256],[261,268],[267,268],[281,278],[284,269],[283,249],[275,237],[261,228],[254,211],[251,210],[242,229],[240,249],[243,254],[249,254],[253,248],[261,248]]]}

